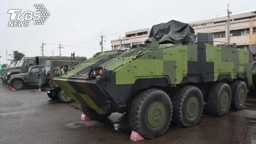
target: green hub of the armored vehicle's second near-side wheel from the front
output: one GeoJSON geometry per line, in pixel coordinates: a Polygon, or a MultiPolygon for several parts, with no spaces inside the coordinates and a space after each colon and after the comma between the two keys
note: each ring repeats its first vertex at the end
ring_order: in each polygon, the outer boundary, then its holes
{"type": "Polygon", "coordinates": [[[186,103],[186,113],[189,118],[193,118],[198,112],[198,99],[192,96],[186,103]]]}

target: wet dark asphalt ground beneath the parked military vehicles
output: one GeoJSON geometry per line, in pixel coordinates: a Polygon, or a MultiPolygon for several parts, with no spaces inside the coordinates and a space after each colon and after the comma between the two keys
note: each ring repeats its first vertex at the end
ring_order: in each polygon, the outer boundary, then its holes
{"type": "MultiPolygon", "coordinates": [[[[0,82],[0,143],[135,143],[127,114],[103,121],[81,121],[76,102],[51,100],[37,88],[11,91],[0,82]]],[[[198,124],[171,122],[158,138],[136,143],[256,143],[256,93],[248,93],[244,110],[223,117],[204,107],[198,124]]]]}

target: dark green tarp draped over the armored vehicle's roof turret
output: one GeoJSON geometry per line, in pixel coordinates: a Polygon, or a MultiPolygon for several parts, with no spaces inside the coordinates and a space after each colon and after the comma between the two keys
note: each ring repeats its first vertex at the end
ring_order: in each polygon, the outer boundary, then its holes
{"type": "Polygon", "coordinates": [[[195,31],[189,24],[171,20],[167,23],[153,25],[145,43],[184,45],[194,43],[194,40],[195,31]]]}

